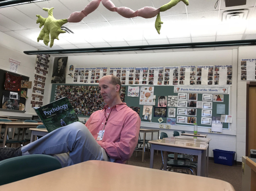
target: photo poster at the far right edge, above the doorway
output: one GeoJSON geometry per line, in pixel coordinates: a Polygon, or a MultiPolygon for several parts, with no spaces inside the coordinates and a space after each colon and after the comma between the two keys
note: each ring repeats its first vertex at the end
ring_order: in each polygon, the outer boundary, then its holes
{"type": "Polygon", "coordinates": [[[241,80],[256,80],[256,59],[241,60],[241,80]]]}

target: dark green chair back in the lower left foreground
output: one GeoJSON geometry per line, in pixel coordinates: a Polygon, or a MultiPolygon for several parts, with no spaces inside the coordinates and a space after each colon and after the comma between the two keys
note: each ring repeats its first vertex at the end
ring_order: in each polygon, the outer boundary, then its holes
{"type": "Polygon", "coordinates": [[[0,185],[60,168],[60,162],[55,157],[48,155],[26,155],[5,159],[0,161],[0,185]]]}

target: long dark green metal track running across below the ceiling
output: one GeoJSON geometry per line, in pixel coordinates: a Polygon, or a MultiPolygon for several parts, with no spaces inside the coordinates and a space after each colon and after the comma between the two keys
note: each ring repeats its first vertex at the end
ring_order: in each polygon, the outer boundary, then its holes
{"type": "Polygon", "coordinates": [[[124,51],[155,51],[155,50],[174,50],[174,49],[199,49],[211,47],[234,47],[234,46],[256,46],[256,39],[253,40],[232,40],[219,42],[196,42],[182,44],[161,44],[145,46],[127,46],[127,47],[105,47],[90,49],[64,49],[47,51],[24,51],[25,54],[69,54],[69,53],[94,53],[94,52],[124,52],[124,51]]]}

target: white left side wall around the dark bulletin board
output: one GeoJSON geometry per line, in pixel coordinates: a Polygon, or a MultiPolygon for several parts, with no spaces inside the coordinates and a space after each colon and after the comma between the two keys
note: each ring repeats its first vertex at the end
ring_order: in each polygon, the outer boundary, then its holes
{"type": "MultiPolygon", "coordinates": [[[[4,69],[9,71],[10,63],[9,58],[14,58],[21,62],[20,66],[18,66],[18,74],[25,75],[29,77],[29,80],[32,81],[32,86],[34,85],[34,69],[36,63],[36,55],[27,55],[24,54],[23,51],[37,51],[36,48],[17,40],[9,35],[6,35],[0,32],[0,69],[4,69]]],[[[51,71],[50,71],[51,72],[51,71]]],[[[49,78],[50,79],[50,78],[49,78]]],[[[46,79],[46,86],[45,89],[50,89],[51,86],[49,84],[49,79],[46,79]]],[[[48,92],[49,93],[49,92],[48,92]]],[[[28,99],[25,105],[25,113],[18,113],[18,112],[11,112],[11,111],[0,111],[0,115],[7,115],[7,116],[19,116],[19,117],[32,117],[35,115],[34,109],[31,107],[31,94],[32,88],[27,90],[28,99]]],[[[2,101],[2,98],[0,98],[2,101]]],[[[50,100],[50,94],[45,94],[43,102],[46,103],[50,100]]]]}

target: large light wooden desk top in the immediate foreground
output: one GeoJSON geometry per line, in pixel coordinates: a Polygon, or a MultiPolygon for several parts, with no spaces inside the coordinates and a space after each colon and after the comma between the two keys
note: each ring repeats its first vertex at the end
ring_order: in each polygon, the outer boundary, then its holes
{"type": "Polygon", "coordinates": [[[0,190],[235,191],[231,184],[218,179],[97,160],[2,185],[0,190]]]}

